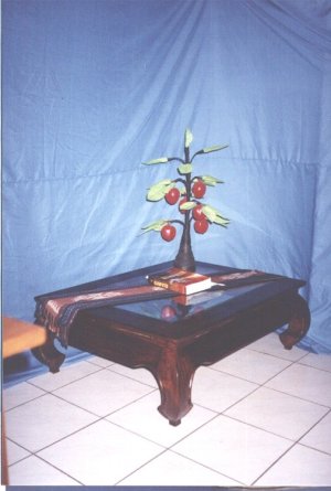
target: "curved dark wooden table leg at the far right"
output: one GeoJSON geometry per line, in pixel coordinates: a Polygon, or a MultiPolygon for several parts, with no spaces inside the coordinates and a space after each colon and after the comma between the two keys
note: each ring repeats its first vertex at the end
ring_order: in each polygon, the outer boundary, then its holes
{"type": "Polygon", "coordinates": [[[302,297],[297,295],[291,308],[292,313],[288,328],[279,334],[286,350],[291,350],[307,334],[310,325],[310,311],[302,297]]]}

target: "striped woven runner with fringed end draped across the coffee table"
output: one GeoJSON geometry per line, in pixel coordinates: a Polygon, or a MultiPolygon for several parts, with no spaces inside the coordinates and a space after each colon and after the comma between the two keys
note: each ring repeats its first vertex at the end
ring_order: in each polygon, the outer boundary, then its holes
{"type": "MultiPolygon", "coordinates": [[[[214,284],[217,284],[216,288],[228,289],[281,277],[258,270],[241,270],[211,275],[211,278],[214,284]]],[[[65,296],[63,291],[58,291],[36,297],[35,322],[49,329],[60,340],[61,344],[67,348],[70,328],[81,310],[174,296],[178,296],[178,293],[152,285],[108,289],[96,287],[92,290],[81,291],[77,287],[65,296]]]]}

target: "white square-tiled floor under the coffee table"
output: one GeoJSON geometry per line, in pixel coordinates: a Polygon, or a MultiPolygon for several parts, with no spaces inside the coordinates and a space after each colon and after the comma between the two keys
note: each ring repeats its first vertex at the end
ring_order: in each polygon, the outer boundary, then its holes
{"type": "Polygon", "coordinates": [[[147,371],[95,356],[3,403],[12,485],[331,484],[331,355],[276,334],[199,369],[178,427],[147,371]]]}

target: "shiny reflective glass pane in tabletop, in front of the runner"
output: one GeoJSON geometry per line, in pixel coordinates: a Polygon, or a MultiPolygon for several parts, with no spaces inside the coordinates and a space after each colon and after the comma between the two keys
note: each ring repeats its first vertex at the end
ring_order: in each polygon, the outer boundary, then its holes
{"type": "Polygon", "coordinates": [[[173,323],[195,316],[201,311],[221,306],[238,295],[256,290],[260,288],[260,286],[259,284],[233,288],[231,290],[205,290],[189,296],[181,295],[172,298],[146,300],[116,306],[114,308],[173,323]]]}

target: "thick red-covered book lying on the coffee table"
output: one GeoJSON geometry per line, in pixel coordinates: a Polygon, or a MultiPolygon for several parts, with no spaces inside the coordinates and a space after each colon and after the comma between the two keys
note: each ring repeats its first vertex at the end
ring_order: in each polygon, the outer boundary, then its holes
{"type": "Polygon", "coordinates": [[[180,295],[191,295],[207,290],[212,287],[212,279],[199,273],[170,268],[164,273],[148,276],[148,280],[156,287],[167,288],[180,295]]]}

